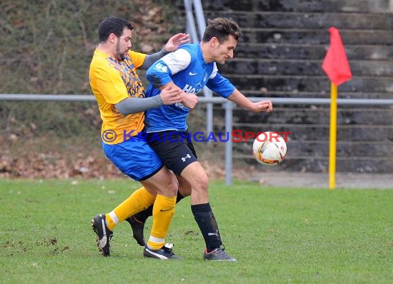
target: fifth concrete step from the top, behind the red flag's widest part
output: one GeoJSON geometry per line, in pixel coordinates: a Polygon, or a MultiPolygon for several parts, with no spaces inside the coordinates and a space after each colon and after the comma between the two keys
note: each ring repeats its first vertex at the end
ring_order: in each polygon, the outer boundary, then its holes
{"type": "MultiPolygon", "coordinates": [[[[392,61],[349,60],[353,76],[393,76],[392,61]]],[[[232,59],[220,66],[223,74],[324,75],[322,60],[232,59]]]]}

